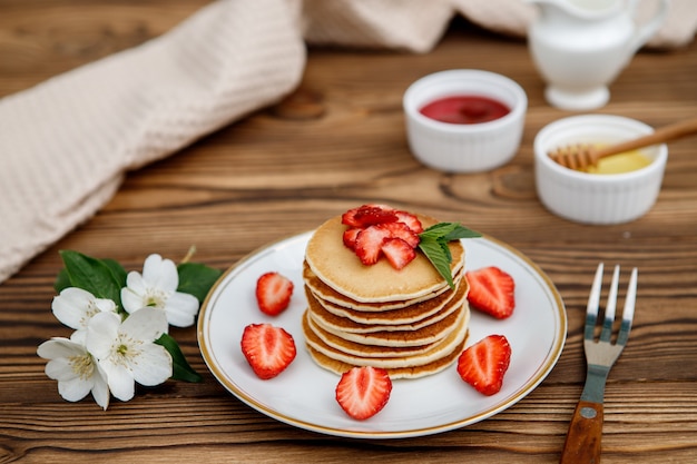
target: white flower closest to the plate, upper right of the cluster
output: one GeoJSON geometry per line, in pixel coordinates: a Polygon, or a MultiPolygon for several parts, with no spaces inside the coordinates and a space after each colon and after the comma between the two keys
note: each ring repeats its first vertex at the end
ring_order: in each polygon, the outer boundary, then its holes
{"type": "Polygon", "coordinates": [[[121,304],[129,314],[146,306],[164,309],[169,324],[188,327],[198,313],[198,299],[177,292],[178,286],[179,274],[175,264],[154,254],[145,260],[143,275],[135,270],[128,273],[126,287],[121,289],[121,304]]]}

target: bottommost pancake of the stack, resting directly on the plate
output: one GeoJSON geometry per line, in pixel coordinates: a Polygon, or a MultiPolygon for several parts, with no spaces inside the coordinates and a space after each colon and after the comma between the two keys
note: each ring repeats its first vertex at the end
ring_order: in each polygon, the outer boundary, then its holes
{"type": "Polygon", "coordinates": [[[430,351],[415,356],[401,356],[390,358],[370,358],[345,354],[326,345],[308,327],[307,317],[303,318],[303,332],[306,338],[306,348],[314,362],[335,374],[343,374],[354,366],[372,365],[383,367],[391,378],[419,378],[435,374],[450,366],[464,349],[469,334],[469,307],[463,308],[465,317],[461,325],[440,344],[435,344],[430,351]]]}

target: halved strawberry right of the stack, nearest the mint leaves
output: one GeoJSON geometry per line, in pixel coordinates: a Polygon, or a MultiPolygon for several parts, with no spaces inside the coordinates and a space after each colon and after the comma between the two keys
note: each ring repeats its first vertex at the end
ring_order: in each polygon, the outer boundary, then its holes
{"type": "Polygon", "coordinates": [[[468,302],[473,308],[498,319],[504,319],[513,314],[516,283],[508,273],[490,266],[470,270],[465,277],[470,284],[468,302]]]}

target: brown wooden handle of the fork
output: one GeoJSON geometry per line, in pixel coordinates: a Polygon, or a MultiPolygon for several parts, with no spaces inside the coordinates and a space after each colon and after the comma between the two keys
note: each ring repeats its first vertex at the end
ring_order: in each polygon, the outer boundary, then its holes
{"type": "Polygon", "coordinates": [[[602,436],[602,403],[581,399],[569,424],[569,433],[561,452],[560,464],[588,464],[600,462],[602,436]]]}

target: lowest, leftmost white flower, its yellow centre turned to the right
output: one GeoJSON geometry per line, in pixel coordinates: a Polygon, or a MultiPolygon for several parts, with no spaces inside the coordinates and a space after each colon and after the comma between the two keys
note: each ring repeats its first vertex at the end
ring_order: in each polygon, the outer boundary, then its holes
{"type": "Polygon", "coordinates": [[[39,345],[37,354],[50,359],[46,375],[58,381],[58,393],[63,399],[78,402],[91,392],[99,406],[104,409],[109,406],[106,374],[81,343],[53,337],[39,345]]]}

